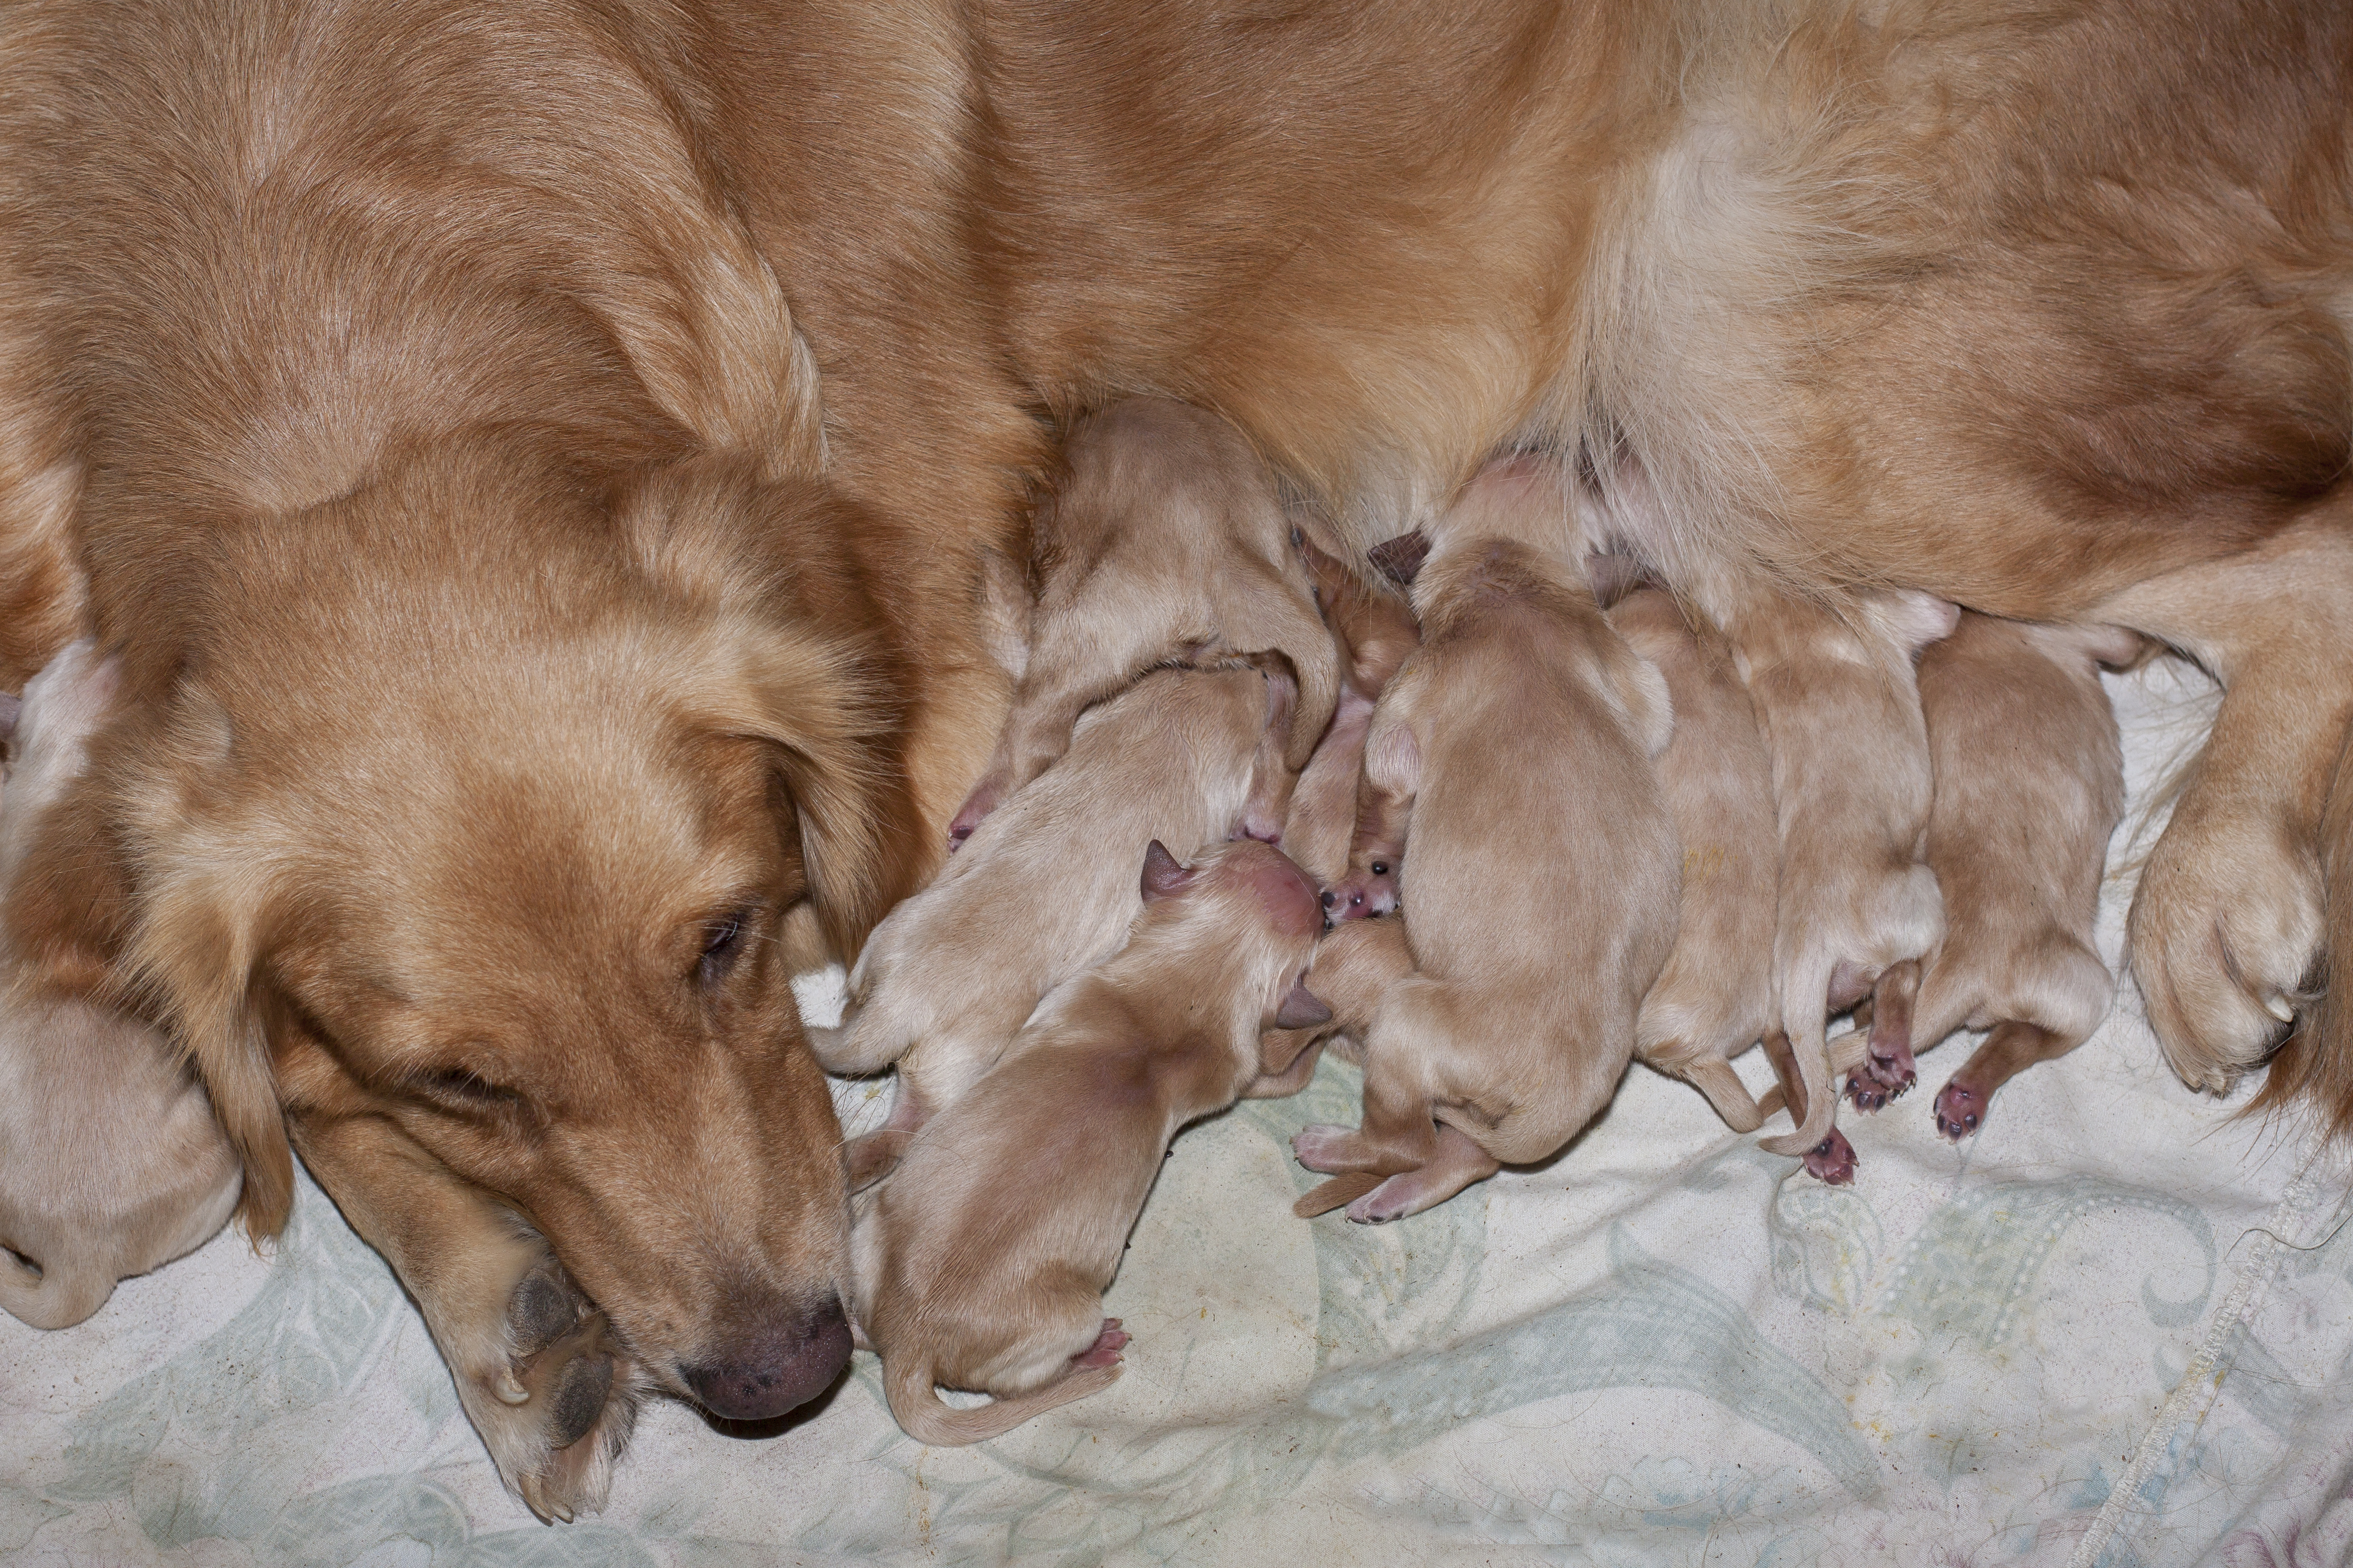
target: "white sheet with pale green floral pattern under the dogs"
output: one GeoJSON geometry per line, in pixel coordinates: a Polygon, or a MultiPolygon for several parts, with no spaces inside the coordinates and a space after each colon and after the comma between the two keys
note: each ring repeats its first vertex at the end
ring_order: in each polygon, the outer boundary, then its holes
{"type": "MultiPolygon", "coordinates": [[[[2169,668],[2111,689],[2148,795],[2209,698],[2169,668]]],[[[1638,1067],[1551,1166],[1377,1229],[1289,1215],[1285,1138],[1353,1119],[1327,1063],[1176,1143],[1106,1305],[1134,1333],[1108,1394],[927,1450],[861,1354],[779,1436],[652,1408],[605,1514],[553,1528],[306,1185],[266,1255],[226,1234],[78,1328],[0,1319],[0,1559],[2353,1559],[2353,1159],[2181,1088],[2129,983],[1955,1147],[1927,1100],[1965,1056],[1842,1117],[1854,1187],[1638,1067]]]]}

